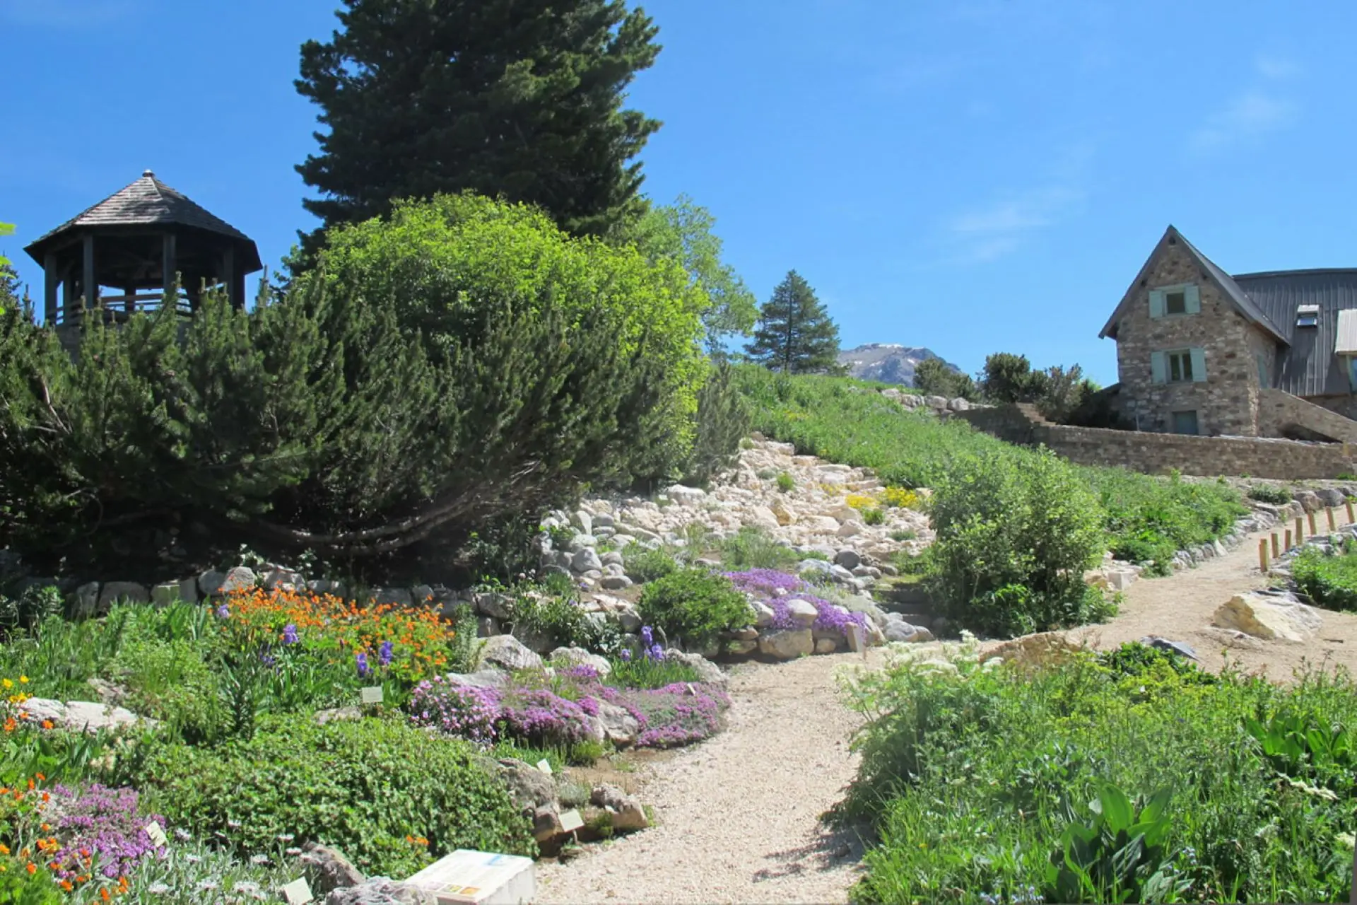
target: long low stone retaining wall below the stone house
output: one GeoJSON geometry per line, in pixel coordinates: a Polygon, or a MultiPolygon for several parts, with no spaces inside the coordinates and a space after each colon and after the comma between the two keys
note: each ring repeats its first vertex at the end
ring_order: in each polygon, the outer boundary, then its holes
{"type": "Polygon", "coordinates": [[[958,411],[954,417],[1012,444],[1049,446],[1080,465],[1120,465],[1147,474],[1177,468],[1185,475],[1250,475],[1278,480],[1357,472],[1357,448],[1350,449],[1346,444],[1069,427],[1042,419],[1031,406],[958,411]]]}

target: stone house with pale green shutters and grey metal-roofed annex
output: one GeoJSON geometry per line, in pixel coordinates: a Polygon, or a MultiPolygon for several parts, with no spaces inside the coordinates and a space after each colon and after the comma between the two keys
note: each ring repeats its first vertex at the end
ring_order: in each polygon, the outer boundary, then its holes
{"type": "Polygon", "coordinates": [[[1357,269],[1229,275],[1168,227],[1099,336],[1126,426],[1357,442],[1357,269]]]}

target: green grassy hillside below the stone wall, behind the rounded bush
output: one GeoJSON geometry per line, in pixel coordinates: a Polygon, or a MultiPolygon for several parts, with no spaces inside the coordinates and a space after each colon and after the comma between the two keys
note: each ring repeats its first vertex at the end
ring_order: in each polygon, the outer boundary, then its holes
{"type": "MultiPolygon", "coordinates": [[[[1035,456],[959,421],[905,410],[859,381],[750,366],[740,369],[738,380],[754,430],[801,453],[871,468],[887,484],[932,487],[966,460],[1025,467],[1035,456]]],[[[1124,559],[1164,564],[1174,551],[1219,537],[1246,513],[1221,484],[1121,468],[1075,471],[1096,499],[1107,548],[1124,559]]]]}

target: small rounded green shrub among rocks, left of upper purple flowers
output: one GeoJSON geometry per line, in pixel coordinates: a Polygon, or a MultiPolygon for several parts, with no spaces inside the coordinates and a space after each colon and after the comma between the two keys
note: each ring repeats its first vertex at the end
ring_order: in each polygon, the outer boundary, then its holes
{"type": "Polygon", "coordinates": [[[642,620],[666,638],[683,639],[693,647],[711,643],[719,632],[753,623],[749,600],[730,579],[693,567],[647,583],[636,609],[642,620]]]}

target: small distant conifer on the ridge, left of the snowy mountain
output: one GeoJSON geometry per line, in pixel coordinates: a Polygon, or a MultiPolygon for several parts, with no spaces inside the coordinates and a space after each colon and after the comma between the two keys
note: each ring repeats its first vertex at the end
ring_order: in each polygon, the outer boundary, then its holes
{"type": "Polygon", "coordinates": [[[749,358],[784,373],[843,373],[839,327],[816,290],[795,270],[787,273],[759,309],[749,358]]]}

